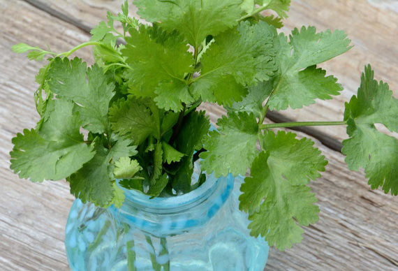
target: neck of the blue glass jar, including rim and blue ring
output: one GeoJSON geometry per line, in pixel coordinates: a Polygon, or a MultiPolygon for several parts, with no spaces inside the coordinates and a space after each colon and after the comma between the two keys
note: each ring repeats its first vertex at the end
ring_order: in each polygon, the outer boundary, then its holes
{"type": "Polygon", "coordinates": [[[208,175],[197,189],[170,198],[150,198],[140,191],[124,189],[123,205],[110,209],[121,221],[147,233],[178,234],[206,224],[230,196],[233,182],[232,175],[220,178],[208,175]]]}

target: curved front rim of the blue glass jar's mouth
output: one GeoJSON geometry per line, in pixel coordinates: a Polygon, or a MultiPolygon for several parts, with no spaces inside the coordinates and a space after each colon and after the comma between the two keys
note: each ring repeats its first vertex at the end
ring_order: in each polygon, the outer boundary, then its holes
{"type": "Polygon", "coordinates": [[[140,191],[136,190],[124,190],[126,196],[126,201],[128,204],[140,205],[146,209],[161,210],[167,212],[167,210],[185,209],[184,207],[192,207],[192,205],[200,204],[202,201],[206,200],[209,196],[214,193],[214,191],[219,186],[220,182],[233,182],[233,176],[228,175],[227,177],[216,178],[212,175],[207,176],[206,182],[200,185],[198,188],[190,191],[189,193],[184,193],[179,196],[171,196],[168,198],[151,198],[140,191]],[[232,180],[229,180],[232,179],[232,180]]]}

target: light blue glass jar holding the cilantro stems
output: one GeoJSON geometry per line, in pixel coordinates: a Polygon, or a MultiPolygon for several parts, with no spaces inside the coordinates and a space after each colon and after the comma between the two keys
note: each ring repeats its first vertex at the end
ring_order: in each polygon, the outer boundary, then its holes
{"type": "Polygon", "coordinates": [[[69,265],[90,271],[263,270],[269,247],[249,235],[247,215],[238,209],[240,184],[241,177],[209,175],[190,193],[153,199],[124,189],[120,208],[77,199],[66,224],[69,265]]]}

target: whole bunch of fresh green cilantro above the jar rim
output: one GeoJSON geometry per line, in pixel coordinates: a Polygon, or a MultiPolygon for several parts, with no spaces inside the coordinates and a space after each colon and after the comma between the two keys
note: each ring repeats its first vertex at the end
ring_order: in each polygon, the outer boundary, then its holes
{"type": "Polygon", "coordinates": [[[314,27],[278,33],[290,0],[137,0],[141,24],[122,13],[91,31],[91,41],[68,52],[15,45],[47,64],[36,81],[40,122],[13,138],[11,168],[33,182],[66,178],[71,193],[101,207],[120,206],[119,184],[149,196],[177,196],[191,183],[193,163],[216,177],[246,175],[239,208],[251,235],[278,249],[300,242],[301,226],[318,221],[307,184],[325,170],[325,156],[307,138],[275,128],[347,125],[343,153],[362,167],[372,189],[398,193],[398,141],[376,123],[398,131],[398,101],[366,66],[337,122],[263,124],[267,110],[330,99],[342,90],[317,65],[351,48],[344,31],[314,27]],[[263,10],[274,15],[263,16],[263,10]],[[118,31],[115,23],[121,24],[118,31]],[[94,46],[87,68],[68,57],[94,46]],[[198,106],[228,110],[216,131],[198,106]]]}

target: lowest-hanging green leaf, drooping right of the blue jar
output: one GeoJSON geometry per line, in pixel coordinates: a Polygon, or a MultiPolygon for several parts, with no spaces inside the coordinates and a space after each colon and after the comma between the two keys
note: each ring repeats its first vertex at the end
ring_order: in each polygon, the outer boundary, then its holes
{"type": "Polygon", "coordinates": [[[245,184],[263,191],[265,197],[258,212],[249,215],[250,234],[262,235],[270,246],[284,251],[292,244],[301,242],[304,230],[299,226],[308,226],[318,221],[318,206],[314,193],[305,185],[291,185],[287,180],[275,180],[267,163],[267,154],[260,155],[253,162],[251,176],[245,184]]]}

